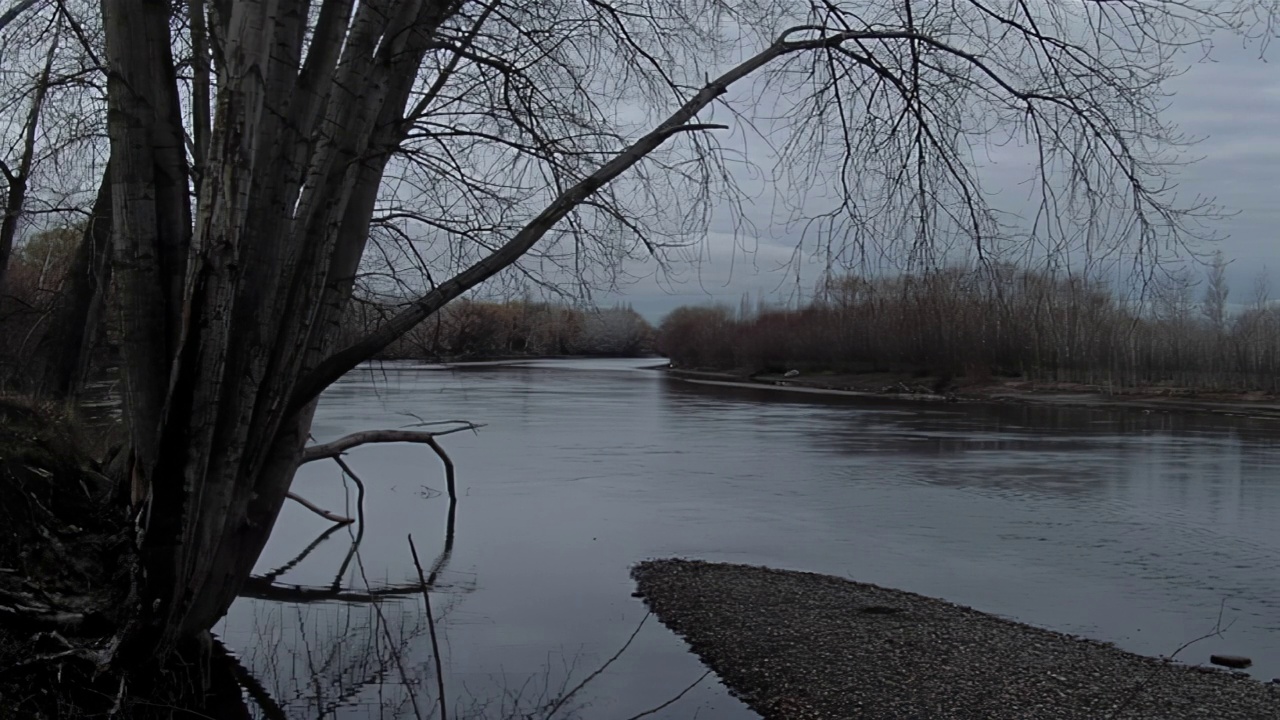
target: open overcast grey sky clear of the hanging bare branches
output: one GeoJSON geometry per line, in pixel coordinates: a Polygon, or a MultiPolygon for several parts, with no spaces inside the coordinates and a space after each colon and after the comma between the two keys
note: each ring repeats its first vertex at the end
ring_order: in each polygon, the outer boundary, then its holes
{"type": "MultiPolygon", "coordinates": [[[[1192,149],[1198,158],[1178,176],[1179,195],[1216,197],[1230,217],[1216,220],[1212,229],[1222,240],[1219,247],[1231,260],[1228,279],[1231,301],[1247,302],[1257,274],[1266,268],[1272,297],[1280,296],[1280,46],[1260,59],[1260,49],[1242,47],[1234,38],[1221,38],[1210,59],[1199,54],[1185,58],[1188,69],[1169,82],[1174,94],[1165,118],[1192,137],[1201,138],[1192,149]]],[[[721,118],[717,117],[717,122],[721,118]]],[[[763,154],[763,152],[762,152],[763,154]]],[[[758,158],[767,160],[765,158],[758,158]]],[[[992,168],[984,184],[997,191],[996,204],[1016,208],[1027,190],[1010,183],[1000,187],[992,178],[1025,177],[1030,156],[1014,158],[1014,168],[992,168]],[[1023,168],[1018,168],[1019,161],[1023,168]],[[991,174],[995,170],[996,174],[991,174]],[[1005,172],[1018,170],[1018,172],[1005,172]],[[1006,201],[1007,200],[1007,201],[1006,201]]],[[[767,224],[771,208],[768,187],[749,209],[756,224],[767,224]]],[[[794,293],[797,284],[809,291],[815,270],[787,275],[777,270],[791,254],[786,233],[762,232],[735,237],[723,222],[707,237],[704,261],[686,269],[678,282],[671,278],[644,278],[621,295],[602,296],[632,304],[650,320],[685,304],[726,302],[737,305],[744,293],[778,300],[794,293]],[[746,254],[741,246],[755,249],[746,254]]],[[[653,273],[653,265],[645,268],[653,273]]],[[[637,268],[640,272],[645,269],[637,268]]]]}

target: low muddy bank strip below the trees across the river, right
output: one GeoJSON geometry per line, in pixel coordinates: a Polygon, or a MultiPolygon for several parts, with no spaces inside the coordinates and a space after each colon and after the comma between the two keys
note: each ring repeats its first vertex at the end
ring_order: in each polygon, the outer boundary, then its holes
{"type": "Polygon", "coordinates": [[[1111,389],[1084,383],[1053,383],[1020,378],[983,380],[916,378],[895,373],[758,373],[669,368],[669,375],[690,382],[769,387],[918,402],[1027,402],[1059,407],[1129,409],[1149,413],[1207,413],[1280,420],[1280,397],[1262,392],[1217,392],[1196,388],[1148,387],[1111,389]]]}

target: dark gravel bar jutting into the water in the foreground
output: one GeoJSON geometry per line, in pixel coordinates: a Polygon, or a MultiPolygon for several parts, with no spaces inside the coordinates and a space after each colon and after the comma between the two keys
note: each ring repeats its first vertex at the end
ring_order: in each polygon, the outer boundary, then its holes
{"type": "Polygon", "coordinates": [[[632,569],[659,620],[765,719],[1280,719],[1280,687],[829,575],[632,569]]]}

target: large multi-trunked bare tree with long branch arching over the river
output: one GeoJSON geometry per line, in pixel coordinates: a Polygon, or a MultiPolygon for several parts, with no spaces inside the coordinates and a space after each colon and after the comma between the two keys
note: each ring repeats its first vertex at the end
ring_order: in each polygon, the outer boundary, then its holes
{"type": "MultiPolygon", "coordinates": [[[[740,197],[708,132],[724,126],[698,119],[713,108],[781,105],[758,122],[785,137],[794,218],[832,251],[991,247],[973,149],[1007,132],[1039,152],[1055,217],[1123,224],[1151,256],[1203,209],[1161,179],[1171,47],[1243,22],[1157,0],[219,0],[177,23],[175,6],[102,3],[142,529],[120,657],[225,612],[346,372],[499,273],[609,283],[696,238],[713,200],[740,197]],[[183,101],[175,47],[209,49],[212,117],[183,101]],[[819,184],[835,208],[804,202],[819,184]],[[375,218],[430,274],[338,346],[375,218]]],[[[1043,232],[1065,243],[1064,227],[1043,232]]]]}

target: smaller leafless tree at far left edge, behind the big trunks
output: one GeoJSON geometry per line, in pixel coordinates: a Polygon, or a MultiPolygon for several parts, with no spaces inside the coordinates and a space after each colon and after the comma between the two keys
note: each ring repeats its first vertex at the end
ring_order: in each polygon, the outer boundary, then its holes
{"type": "Polygon", "coordinates": [[[0,27],[0,117],[13,120],[0,124],[6,187],[0,301],[14,309],[4,318],[5,332],[28,341],[6,350],[22,352],[17,379],[56,397],[70,395],[87,369],[84,348],[100,325],[110,275],[110,188],[100,183],[106,117],[96,5],[24,3],[6,15],[13,22],[0,27]],[[81,249],[70,268],[54,278],[60,291],[32,307],[20,297],[23,288],[8,282],[12,250],[68,228],[81,232],[81,249]]]}

